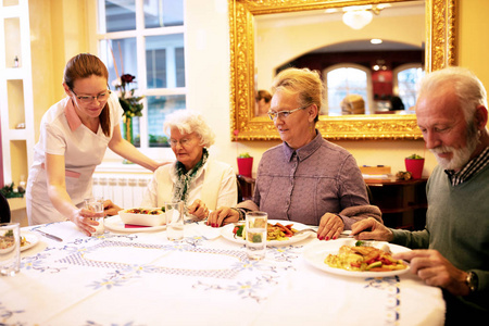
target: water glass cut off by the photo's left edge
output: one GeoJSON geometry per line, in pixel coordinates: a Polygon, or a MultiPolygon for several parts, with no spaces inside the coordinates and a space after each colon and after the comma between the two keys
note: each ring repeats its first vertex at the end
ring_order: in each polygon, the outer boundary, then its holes
{"type": "Polygon", "coordinates": [[[21,229],[18,223],[0,224],[0,275],[14,276],[21,269],[21,229]]]}

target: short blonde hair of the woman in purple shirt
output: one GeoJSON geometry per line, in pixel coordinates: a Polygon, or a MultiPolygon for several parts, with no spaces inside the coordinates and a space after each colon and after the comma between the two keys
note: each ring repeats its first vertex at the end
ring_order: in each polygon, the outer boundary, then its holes
{"type": "MultiPolygon", "coordinates": [[[[272,84],[272,91],[275,93],[278,90],[299,93],[301,106],[316,104],[317,112],[321,110],[324,87],[319,73],[316,71],[294,67],[281,71],[272,84]]],[[[314,122],[318,120],[317,114],[314,122]]]]}

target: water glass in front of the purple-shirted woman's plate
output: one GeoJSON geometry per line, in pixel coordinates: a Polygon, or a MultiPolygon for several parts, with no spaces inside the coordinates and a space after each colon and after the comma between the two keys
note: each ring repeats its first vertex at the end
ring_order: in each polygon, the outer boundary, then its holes
{"type": "Polygon", "coordinates": [[[247,254],[250,260],[262,260],[266,251],[266,227],[268,214],[248,212],[246,216],[247,254]]]}

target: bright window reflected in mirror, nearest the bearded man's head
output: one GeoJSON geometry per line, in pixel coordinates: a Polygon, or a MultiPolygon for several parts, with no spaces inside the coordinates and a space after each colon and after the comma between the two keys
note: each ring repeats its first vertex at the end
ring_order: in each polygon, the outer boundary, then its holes
{"type": "Polygon", "coordinates": [[[421,64],[403,64],[394,68],[394,88],[404,104],[405,110],[410,110],[416,104],[417,87],[425,75],[421,64]]]}

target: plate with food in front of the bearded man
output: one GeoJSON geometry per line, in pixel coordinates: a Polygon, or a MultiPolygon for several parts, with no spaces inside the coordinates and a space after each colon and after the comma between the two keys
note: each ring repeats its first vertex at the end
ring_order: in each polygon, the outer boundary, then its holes
{"type": "Polygon", "coordinates": [[[384,241],[338,239],[311,243],[304,248],[303,256],[312,266],[331,274],[388,277],[410,269],[406,262],[392,259],[393,253],[410,250],[384,241]]]}

